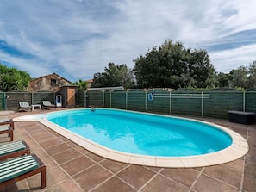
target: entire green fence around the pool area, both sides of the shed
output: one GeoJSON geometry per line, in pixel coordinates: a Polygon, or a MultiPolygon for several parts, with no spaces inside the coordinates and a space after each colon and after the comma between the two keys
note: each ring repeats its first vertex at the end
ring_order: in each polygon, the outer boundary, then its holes
{"type": "MultiPolygon", "coordinates": [[[[20,101],[54,103],[56,95],[53,92],[0,92],[0,110],[16,110],[20,101]]],[[[78,92],[76,98],[78,107],[121,108],[169,115],[228,118],[228,110],[256,112],[254,90],[88,90],[78,92]]]]}

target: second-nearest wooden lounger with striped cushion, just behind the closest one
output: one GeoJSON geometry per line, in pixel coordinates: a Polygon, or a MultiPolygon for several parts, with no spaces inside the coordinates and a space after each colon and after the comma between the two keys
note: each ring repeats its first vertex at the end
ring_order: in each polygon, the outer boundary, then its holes
{"type": "Polygon", "coordinates": [[[19,140],[0,145],[0,161],[7,158],[16,158],[25,154],[30,154],[30,148],[25,141],[19,140]]]}

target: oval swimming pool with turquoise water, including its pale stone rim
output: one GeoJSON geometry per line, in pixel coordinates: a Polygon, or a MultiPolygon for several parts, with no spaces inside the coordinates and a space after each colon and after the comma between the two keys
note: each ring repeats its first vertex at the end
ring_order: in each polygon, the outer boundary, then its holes
{"type": "Polygon", "coordinates": [[[132,164],[207,166],[240,158],[248,150],[247,141],[225,127],[169,115],[97,108],[23,117],[28,119],[41,121],[91,152],[132,164]]]}

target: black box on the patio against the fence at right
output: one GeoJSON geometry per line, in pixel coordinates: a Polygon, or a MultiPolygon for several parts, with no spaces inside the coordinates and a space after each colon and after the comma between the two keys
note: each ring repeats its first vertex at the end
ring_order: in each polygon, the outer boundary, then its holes
{"type": "Polygon", "coordinates": [[[237,122],[245,125],[253,124],[255,121],[255,113],[243,111],[228,111],[229,121],[237,122]]]}

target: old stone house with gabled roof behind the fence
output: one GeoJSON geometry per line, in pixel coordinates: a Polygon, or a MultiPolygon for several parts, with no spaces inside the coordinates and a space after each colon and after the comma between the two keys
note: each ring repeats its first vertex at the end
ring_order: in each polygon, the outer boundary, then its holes
{"type": "Polygon", "coordinates": [[[35,78],[28,84],[29,92],[51,91],[57,92],[61,86],[72,85],[72,82],[58,74],[53,73],[47,76],[35,78]]]}

